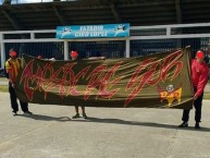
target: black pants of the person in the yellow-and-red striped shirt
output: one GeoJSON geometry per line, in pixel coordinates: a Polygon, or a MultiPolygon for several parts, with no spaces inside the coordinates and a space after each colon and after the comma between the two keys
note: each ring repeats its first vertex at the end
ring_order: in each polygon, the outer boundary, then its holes
{"type": "MultiPolygon", "coordinates": [[[[17,98],[14,88],[12,87],[12,84],[9,83],[9,93],[10,93],[10,101],[11,101],[11,108],[13,109],[14,112],[18,111],[18,105],[17,105],[17,98]]],[[[23,112],[28,111],[28,104],[23,102],[20,100],[21,104],[21,109],[23,112]]]]}

